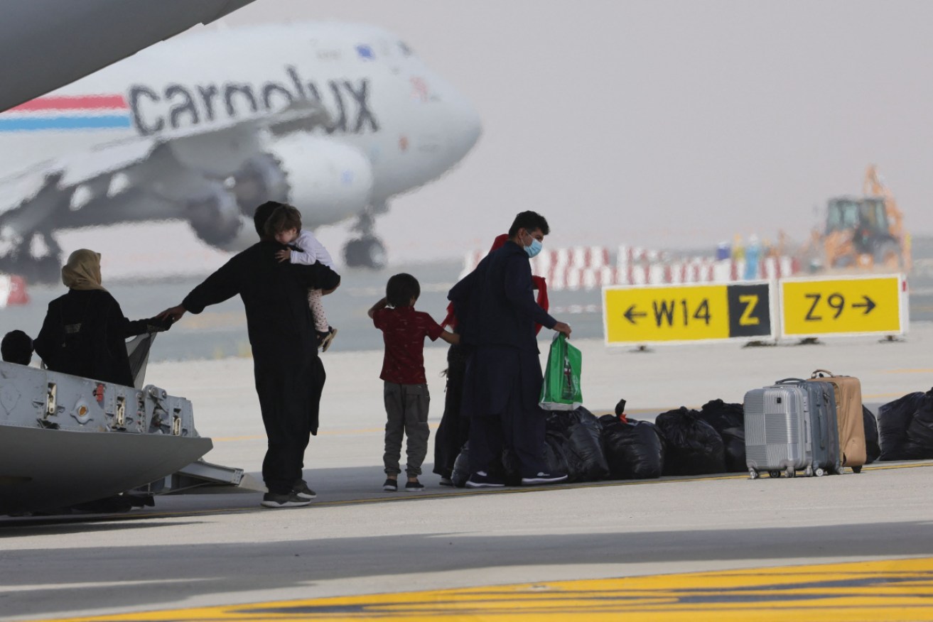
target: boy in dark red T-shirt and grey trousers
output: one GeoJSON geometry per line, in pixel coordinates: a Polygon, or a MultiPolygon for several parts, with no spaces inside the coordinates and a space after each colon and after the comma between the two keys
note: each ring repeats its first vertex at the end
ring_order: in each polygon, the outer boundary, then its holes
{"type": "Polygon", "coordinates": [[[402,434],[408,437],[405,491],[425,490],[418,481],[421,463],[427,453],[427,394],[425,379],[425,337],[436,341],[459,343],[460,336],[445,331],[423,311],[415,311],[414,303],[421,296],[421,285],[411,274],[396,274],[385,284],[385,297],[369,309],[372,324],[383,331],[385,354],[383,397],[385,400],[385,483],[383,491],[398,490],[398,459],[401,456],[402,434]]]}

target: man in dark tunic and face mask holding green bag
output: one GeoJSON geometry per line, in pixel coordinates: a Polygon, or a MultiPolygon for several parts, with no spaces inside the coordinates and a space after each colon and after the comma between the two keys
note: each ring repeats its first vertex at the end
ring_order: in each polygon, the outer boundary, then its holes
{"type": "Polygon", "coordinates": [[[480,261],[448,295],[461,342],[471,350],[462,405],[462,414],[470,417],[469,488],[505,485],[492,468],[501,460],[503,447],[518,458],[522,484],[549,484],[567,477],[548,471],[543,455],[545,414],[537,406],[542,375],[535,325],[570,337],[570,326],[541,309],[532,291],[528,259],[540,252],[549,233],[544,216],[518,214],[508,229],[508,242],[480,261]]]}

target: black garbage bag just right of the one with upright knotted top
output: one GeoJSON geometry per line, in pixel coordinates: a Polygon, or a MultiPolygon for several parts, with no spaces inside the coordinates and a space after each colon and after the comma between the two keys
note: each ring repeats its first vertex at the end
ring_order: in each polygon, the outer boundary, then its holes
{"type": "Polygon", "coordinates": [[[664,435],[664,475],[725,473],[722,437],[696,410],[685,407],[662,412],[655,420],[664,435]]]}

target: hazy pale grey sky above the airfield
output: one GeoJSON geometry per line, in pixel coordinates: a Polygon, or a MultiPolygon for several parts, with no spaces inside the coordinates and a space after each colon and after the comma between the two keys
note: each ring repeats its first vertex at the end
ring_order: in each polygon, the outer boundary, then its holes
{"type": "Polygon", "coordinates": [[[555,246],[803,240],[870,162],[933,233],[933,2],[257,0],[227,23],[316,20],[397,33],[482,118],[380,220],[395,260],[486,246],[524,209],[555,246]]]}

